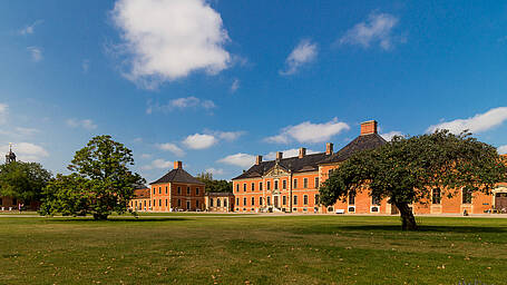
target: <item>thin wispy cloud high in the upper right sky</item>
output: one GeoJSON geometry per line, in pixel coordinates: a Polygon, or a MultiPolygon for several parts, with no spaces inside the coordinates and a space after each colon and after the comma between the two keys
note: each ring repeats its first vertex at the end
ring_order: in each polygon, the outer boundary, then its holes
{"type": "Polygon", "coordinates": [[[398,40],[392,36],[392,29],[398,21],[398,18],[392,14],[372,12],[365,21],[357,23],[348,30],[339,43],[357,45],[363,48],[378,43],[382,49],[389,50],[398,40]]]}

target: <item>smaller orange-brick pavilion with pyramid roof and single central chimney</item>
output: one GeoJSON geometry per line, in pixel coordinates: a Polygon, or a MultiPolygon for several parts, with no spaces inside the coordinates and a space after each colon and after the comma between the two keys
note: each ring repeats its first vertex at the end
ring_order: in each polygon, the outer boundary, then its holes
{"type": "Polygon", "coordinates": [[[136,189],[129,206],[137,210],[178,212],[204,210],[204,183],[183,169],[182,161],[174,169],[149,184],[149,188],[136,189]],[[140,207],[139,207],[140,204],[140,207]]]}

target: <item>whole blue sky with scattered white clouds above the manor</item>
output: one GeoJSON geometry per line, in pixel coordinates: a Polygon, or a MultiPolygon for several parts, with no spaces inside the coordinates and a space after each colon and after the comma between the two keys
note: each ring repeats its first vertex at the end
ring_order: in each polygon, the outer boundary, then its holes
{"type": "Polygon", "coordinates": [[[507,153],[503,1],[2,1],[0,151],[66,173],[109,134],[148,181],[470,129],[507,153]]]}

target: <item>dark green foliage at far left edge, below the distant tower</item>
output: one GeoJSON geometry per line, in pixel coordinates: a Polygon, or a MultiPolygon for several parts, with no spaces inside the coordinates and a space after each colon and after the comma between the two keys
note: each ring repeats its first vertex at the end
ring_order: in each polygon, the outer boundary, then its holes
{"type": "Polygon", "coordinates": [[[37,163],[0,165],[0,196],[13,197],[23,203],[39,200],[51,176],[37,163]]]}

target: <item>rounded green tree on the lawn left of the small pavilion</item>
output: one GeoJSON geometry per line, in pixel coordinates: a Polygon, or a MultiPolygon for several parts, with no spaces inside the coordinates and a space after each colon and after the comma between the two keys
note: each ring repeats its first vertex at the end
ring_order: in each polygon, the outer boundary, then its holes
{"type": "Polygon", "coordinates": [[[129,170],[131,150],[110,136],[94,137],[76,151],[68,166],[70,176],[59,175],[46,189],[41,214],[92,214],[106,219],[113,212],[125,213],[134,196],[134,185],[144,179],[129,170]]]}

